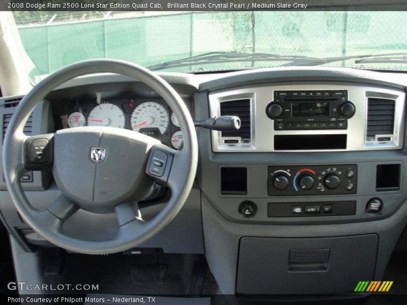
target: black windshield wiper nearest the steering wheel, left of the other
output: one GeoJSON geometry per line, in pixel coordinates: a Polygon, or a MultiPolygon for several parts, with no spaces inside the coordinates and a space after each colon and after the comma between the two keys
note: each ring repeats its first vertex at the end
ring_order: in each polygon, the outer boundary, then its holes
{"type": "Polygon", "coordinates": [[[205,54],[171,60],[147,67],[150,70],[162,70],[168,68],[178,68],[195,65],[221,64],[233,62],[269,62],[269,61],[290,61],[290,62],[314,62],[324,60],[323,58],[301,56],[301,55],[280,55],[268,53],[243,53],[243,52],[209,52],[205,54]]]}

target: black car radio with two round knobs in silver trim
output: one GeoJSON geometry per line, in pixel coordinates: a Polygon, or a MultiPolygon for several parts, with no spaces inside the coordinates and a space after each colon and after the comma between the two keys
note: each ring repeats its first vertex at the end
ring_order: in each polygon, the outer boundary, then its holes
{"type": "Polygon", "coordinates": [[[266,108],[275,130],[347,129],[355,111],[347,90],[276,90],[266,108]]]}

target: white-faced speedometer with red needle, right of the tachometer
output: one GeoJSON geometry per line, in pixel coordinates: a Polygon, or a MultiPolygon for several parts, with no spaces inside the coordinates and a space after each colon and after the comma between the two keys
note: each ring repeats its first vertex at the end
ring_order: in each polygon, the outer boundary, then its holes
{"type": "Polygon", "coordinates": [[[137,132],[142,129],[157,128],[161,134],[168,128],[169,115],[163,105],[157,102],[144,102],[134,109],[130,117],[131,129],[137,132]]]}

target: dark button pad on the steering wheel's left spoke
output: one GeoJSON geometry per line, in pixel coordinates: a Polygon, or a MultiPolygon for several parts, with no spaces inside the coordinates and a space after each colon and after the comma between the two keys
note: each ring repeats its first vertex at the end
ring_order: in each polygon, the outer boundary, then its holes
{"type": "Polygon", "coordinates": [[[24,141],[24,167],[30,170],[52,170],[53,133],[27,137],[24,141]]]}

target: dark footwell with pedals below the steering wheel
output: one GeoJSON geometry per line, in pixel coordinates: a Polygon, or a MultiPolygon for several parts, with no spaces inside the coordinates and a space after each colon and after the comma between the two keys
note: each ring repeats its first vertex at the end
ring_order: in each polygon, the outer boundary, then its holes
{"type": "Polygon", "coordinates": [[[192,254],[80,255],[66,258],[65,279],[99,285],[99,292],[131,295],[217,294],[203,256],[192,254]]]}

